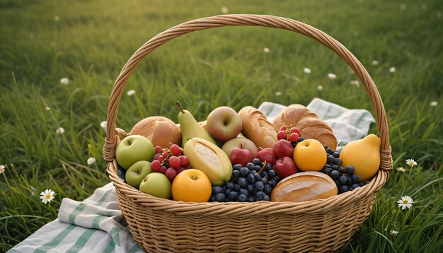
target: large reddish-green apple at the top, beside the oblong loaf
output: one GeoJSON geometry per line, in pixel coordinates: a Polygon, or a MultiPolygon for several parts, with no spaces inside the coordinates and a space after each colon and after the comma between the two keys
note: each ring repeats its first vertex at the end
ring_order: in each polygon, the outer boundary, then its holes
{"type": "Polygon", "coordinates": [[[215,108],[206,119],[206,130],[218,141],[235,138],[241,131],[241,118],[231,107],[215,108]]]}

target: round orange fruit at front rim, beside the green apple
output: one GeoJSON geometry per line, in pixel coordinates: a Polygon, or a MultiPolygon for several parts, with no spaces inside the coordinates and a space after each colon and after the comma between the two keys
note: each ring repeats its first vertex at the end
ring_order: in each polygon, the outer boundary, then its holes
{"type": "Polygon", "coordinates": [[[178,173],[172,182],[172,198],[175,201],[207,202],[211,197],[211,181],[201,170],[188,169],[178,173]]]}

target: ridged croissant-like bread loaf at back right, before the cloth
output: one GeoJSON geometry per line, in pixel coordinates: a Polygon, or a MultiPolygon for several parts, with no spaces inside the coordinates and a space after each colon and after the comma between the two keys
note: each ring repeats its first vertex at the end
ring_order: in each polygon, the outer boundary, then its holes
{"type": "Polygon", "coordinates": [[[289,105],[275,117],[273,124],[276,131],[282,126],[297,127],[305,139],[316,139],[333,150],[337,148],[332,129],[303,105],[289,105]]]}

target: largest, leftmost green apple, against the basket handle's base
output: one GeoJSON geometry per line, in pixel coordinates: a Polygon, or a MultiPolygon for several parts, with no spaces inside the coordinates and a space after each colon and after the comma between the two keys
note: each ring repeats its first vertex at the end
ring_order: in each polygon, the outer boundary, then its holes
{"type": "Polygon", "coordinates": [[[151,141],[141,135],[131,135],[122,139],[115,149],[115,159],[125,170],[139,160],[151,161],[156,153],[151,141]]]}

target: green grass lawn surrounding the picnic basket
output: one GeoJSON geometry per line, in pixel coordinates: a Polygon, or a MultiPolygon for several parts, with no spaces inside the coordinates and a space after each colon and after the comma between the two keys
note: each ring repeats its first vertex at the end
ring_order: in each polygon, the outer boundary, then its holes
{"type": "MultiPolygon", "coordinates": [[[[221,14],[222,6],[229,13],[297,19],[342,42],[384,100],[394,169],[407,167],[407,158],[418,162],[406,173],[391,172],[371,216],[343,252],[443,248],[441,1],[0,0],[0,164],[6,165],[0,175],[0,252],[57,218],[62,198],[83,200],[109,182],[100,122],[113,81],[132,53],[173,25],[221,14]],[[379,65],[372,65],[374,59],[379,65]],[[65,77],[69,84],[62,86],[65,77]],[[438,105],[431,107],[431,101],[438,105]],[[55,133],[58,127],[64,134],[55,133]],[[87,165],[89,157],[97,162],[87,165]],[[47,188],[57,195],[45,205],[39,194],[47,188]],[[403,195],[415,201],[409,210],[396,204],[403,195]]],[[[295,33],[204,30],[168,42],[137,66],[125,88],[125,94],[136,94],[122,96],[117,126],[129,131],[149,115],[177,122],[176,100],[197,120],[219,105],[307,105],[315,97],[372,111],[364,89],[350,85],[355,79],[340,57],[295,33]],[[304,74],[304,67],[312,73],[304,74]],[[330,81],[328,73],[338,78],[330,81]]]]}

